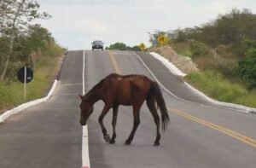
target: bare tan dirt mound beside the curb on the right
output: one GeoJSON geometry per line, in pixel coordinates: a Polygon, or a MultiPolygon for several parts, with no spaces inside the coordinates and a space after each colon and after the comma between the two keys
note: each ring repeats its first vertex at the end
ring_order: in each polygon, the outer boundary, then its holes
{"type": "Polygon", "coordinates": [[[199,69],[196,64],[188,56],[178,55],[171,46],[163,46],[162,48],[149,49],[150,52],[156,52],[171,61],[179,70],[184,73],[197,72],[199,69]]]}

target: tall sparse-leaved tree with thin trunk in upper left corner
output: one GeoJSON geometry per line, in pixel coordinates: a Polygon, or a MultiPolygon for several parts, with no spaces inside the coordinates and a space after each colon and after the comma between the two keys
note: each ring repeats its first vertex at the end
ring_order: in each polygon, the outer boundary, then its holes
{"type": "Polygon", "coordinates": [[[39,13],[40,5],[34,0],[1,0],[0,1],[0,36],[7,42],[7,52],[4,53],[3,79],[13,56],[15,38],[26,32],[27,26],[35,19],[48,19],[47,13],[39,13]]]}

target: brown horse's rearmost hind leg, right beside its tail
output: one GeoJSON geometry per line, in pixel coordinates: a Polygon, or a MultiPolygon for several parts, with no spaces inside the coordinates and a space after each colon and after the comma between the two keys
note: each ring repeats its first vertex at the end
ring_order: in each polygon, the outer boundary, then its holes
{"type": "Polygon", "coordinates": [[[156,138],[154,141],[154,146],[159,146],[160,145],[160,118],[154,106],[154,99],[152,97],[149,97],[147,99],[147,105],[150,113],[152,113],[154,117],[154,123],[156,125],[156,138]]]}

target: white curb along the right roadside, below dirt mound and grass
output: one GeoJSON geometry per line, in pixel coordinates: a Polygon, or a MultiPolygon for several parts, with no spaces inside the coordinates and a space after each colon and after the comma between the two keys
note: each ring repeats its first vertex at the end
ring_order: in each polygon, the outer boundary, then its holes
{"type": "MultiPolygon", "coordinates": [[[[165,59],[162,55],[159,55],[158,53],[155,53],[155,52],[150,52],[149,54],[152,55],[155,59],[159,60],[173,74],[175,74],[177,76],[184,76],[183,72],[181,72],[174,64],[172,64],[172,62],[167,61],[167,59],[165,59]]],[[[239,110],[242,113],[256,113],[256,108],[246,107],[246,106],[237,105],[237,104],[228,103],[228,102],[215,101],[212,98],[210,98],[210,97],[206,96],[205,94],[203,94],[201,91],[196,90],[195,88],[193,88],[187,82],[184,82],[184,84],[186,84],[187,87],[190,90],[193,90],[196,94],[204,97],[207,101],[210,101],[210,102],[212,102],[214,104],[217,104],[218,106],[223,106],[223,107],[228,107],[228,108],[233,108],[233,109],[235,108],[235,109],[239,110]]]]}

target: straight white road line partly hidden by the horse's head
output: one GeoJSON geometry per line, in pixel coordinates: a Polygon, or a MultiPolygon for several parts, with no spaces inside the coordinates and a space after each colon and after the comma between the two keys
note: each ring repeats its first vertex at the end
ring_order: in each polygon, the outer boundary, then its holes
{"type": "MultiPolygon", "coordinates": [[[[83,96],[85,94],[84,88],[84,72],[85,72],[85,50],[83,53],[83,96]]],[[[82,136],[82,167],[90,167],[89,159],[89,144],[88,144],[88,128],[87,125],[83,126],[83,136],[82,136]]]]}

